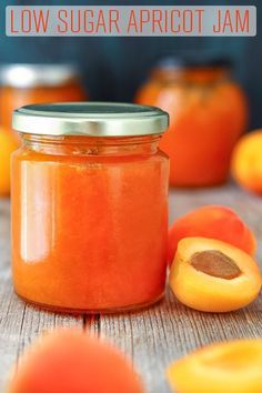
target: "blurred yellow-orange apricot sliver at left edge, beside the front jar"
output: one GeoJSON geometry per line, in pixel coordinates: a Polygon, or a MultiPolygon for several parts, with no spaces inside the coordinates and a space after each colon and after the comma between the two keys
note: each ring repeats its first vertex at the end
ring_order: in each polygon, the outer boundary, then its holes
{"type": "Polygon", "coordinates": [[[13,135],[0,129],[0,196],[10,193],[10,157],[17,148],[13,135]]]}

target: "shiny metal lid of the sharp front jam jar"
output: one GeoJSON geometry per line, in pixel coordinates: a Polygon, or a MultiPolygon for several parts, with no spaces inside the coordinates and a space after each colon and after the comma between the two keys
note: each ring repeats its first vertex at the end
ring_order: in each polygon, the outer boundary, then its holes
{"type": "Polygon", "coordinates": [[[12,117],[14,130],[41,135],[135,137],[163,133],[169,114],[159,108],[114,102],[26,105],[12,117]]]}

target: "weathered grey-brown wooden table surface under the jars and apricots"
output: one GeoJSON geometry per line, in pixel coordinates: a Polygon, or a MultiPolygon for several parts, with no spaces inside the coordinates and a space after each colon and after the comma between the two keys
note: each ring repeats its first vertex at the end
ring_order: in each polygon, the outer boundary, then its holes
{"type": "MultiPolygon", "coordinates": [[[[211,190],[173,191],[170,220],[202,204],[234,208],[254,230],[262,260],[262,199],[234,185],[211,190]]],[[[10,274],[9,201],[0,200],[0,391],[11,365],[42,331],[56,326],[90,329],[109,337],[140,371],[148,393],[168,393],[164,369],[173,360],[202,345],[234,337],[262,337],[262,296],[250,306],[226,314],[206,314],[187,309],[171,293],[158,305],[120,315],[68,316],[40,311],[14,294],[10,274]]],[[[224,229],[226,231],[226,228],[224,229]]],[[[117,392],[115,392],[117,393],[117,392]]]]}

